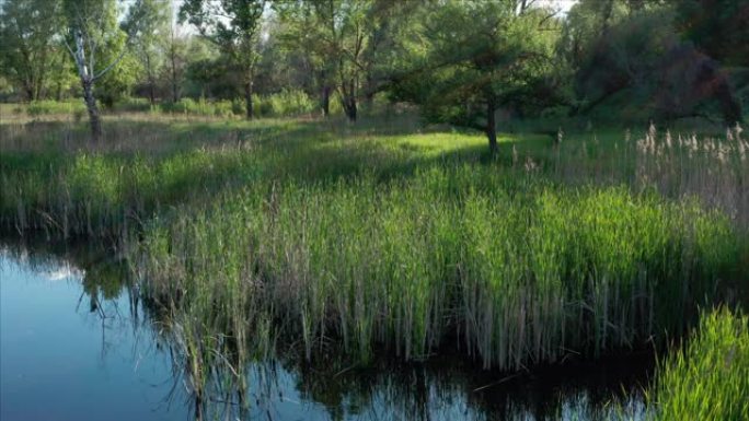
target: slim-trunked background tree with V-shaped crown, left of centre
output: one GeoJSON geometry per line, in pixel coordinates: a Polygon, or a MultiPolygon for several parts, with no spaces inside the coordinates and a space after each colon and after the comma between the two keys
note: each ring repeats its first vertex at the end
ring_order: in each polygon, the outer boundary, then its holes
{"type": "Polygon", "coordinates": [[[247,119],[254,116],[256,47],[265,4],[266,0],[185,0],[180,9],[181,21],[193,24],[240,70],[247,119]]]}

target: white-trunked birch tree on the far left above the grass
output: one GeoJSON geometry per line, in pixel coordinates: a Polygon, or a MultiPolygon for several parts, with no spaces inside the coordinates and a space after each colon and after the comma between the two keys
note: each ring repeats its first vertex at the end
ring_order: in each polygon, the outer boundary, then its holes
{"type": "MultiPolygon", "coordinates": [[[[139,8],[137,0],[132,8],[139,8]]],[[[128,34],[117,25],[114,0],[64,0],[67,19],[66,47],[73,58],[89,113],[91,139],[102,138],[102,124],[94,91],[96,83],[116,69],[127,54],[128,34]]],[[[136,31],[137,25],[129,26],[136,31]]]]}

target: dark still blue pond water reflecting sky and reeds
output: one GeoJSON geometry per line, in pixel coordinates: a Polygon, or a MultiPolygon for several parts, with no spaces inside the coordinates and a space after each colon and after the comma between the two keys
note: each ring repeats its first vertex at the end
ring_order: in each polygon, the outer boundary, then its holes
{"type": "Polygon", "coordinates": [[[101,255],[0,248],[1,420],[591,420],[615,418],[617,406],[643,416],[648,355],[527,373],[450,355],[367,369],[286,358],[247,364],[239,388],[215,373],[197,396],[168,320],[123,273],[101,255]]]}

